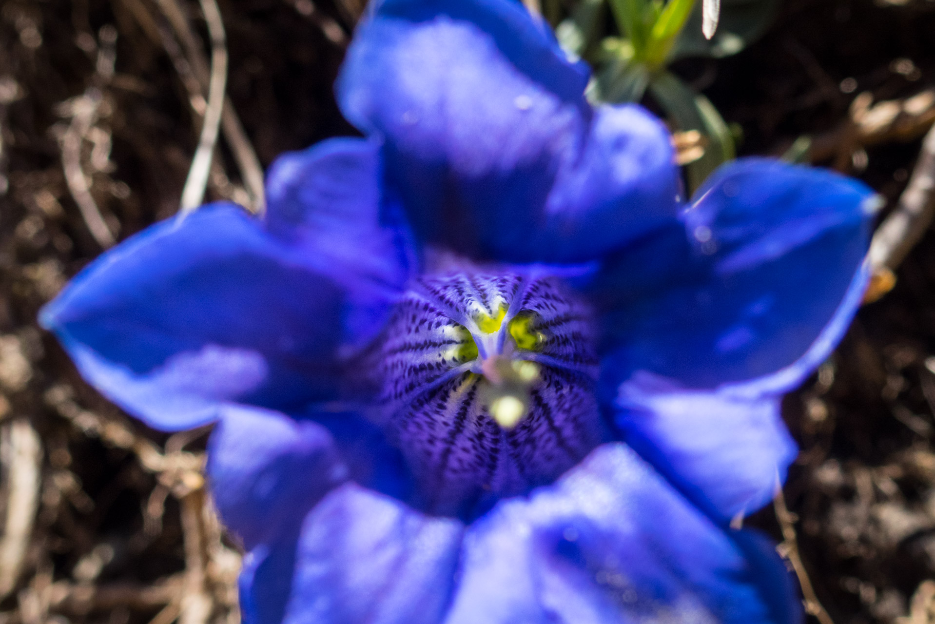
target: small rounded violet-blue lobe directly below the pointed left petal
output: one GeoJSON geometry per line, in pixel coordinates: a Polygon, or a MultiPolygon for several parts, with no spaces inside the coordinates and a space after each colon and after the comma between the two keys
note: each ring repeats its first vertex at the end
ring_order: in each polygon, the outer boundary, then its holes
{"type": "Polygon", "coordinates": [[[208,446],[211,493],[224,524],[248,549],[295,532],[309,509],[347,480],[322,426],[239,406],[222,414],[208,446]]]}

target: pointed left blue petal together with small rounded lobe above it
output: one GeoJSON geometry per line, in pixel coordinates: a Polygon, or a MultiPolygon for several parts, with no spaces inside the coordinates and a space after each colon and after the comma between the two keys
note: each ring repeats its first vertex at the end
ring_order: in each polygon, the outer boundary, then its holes
{"type": "Polygon", "coordinates": [[[154,428],[208,423],[225,401],[335,399],[338,356],[379,331],[410,271],[378,152],[343,139],[284,157],[266,224],[218,204],[153,225],[85,268],[42,324],[154,428]]]}

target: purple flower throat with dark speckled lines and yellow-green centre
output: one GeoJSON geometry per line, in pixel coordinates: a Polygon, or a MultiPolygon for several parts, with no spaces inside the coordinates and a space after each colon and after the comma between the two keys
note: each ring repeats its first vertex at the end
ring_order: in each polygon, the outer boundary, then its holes
{"type": "Polygon", "coordinates": [[[601,441],[592,334],[553,278],[426,276],[407,293],[381,340],[381,414],[425,509],[471,515],[601,441]]]}

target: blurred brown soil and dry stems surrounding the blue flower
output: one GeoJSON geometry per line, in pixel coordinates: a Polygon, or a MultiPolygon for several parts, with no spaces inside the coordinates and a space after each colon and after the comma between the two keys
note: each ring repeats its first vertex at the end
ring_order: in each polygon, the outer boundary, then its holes
{"type": "MultiPolygon", "coordinates": [[[[695,7],[644,64],[668,82],[631,63],[639,47],[601,2],[527,6],[596,66],[593,99],[669,120],[689,187],[734,152],[784,155],[866,181],[885,216],[935,121],[932,0],[722,0],[712,42],[695,7]]],[[[179,209],[223,61],[208,199],[253,207],[277,154],[354,134],[332,83],[363,8],[0,0],[0,624],[238,621],[239,550],[201,476],[207,429],[166,436],[127,418],[36,312],[179,209]]],[[[935,235],[921,226],[786,399],[801,447],[787,511],[749,520],[783,541],[821,624],[935,622],[935,235]]]]}

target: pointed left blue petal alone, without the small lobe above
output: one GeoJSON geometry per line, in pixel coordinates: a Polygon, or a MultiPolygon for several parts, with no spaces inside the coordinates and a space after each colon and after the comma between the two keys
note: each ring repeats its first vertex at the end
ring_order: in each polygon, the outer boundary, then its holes
{"type": "Polygon", "coordinates": [[[155,428],[209,422],[220,401],[328,399],[345,297],[290,253],[236,206],[205,207],[98,258],[41,321],[155,428]]]}

